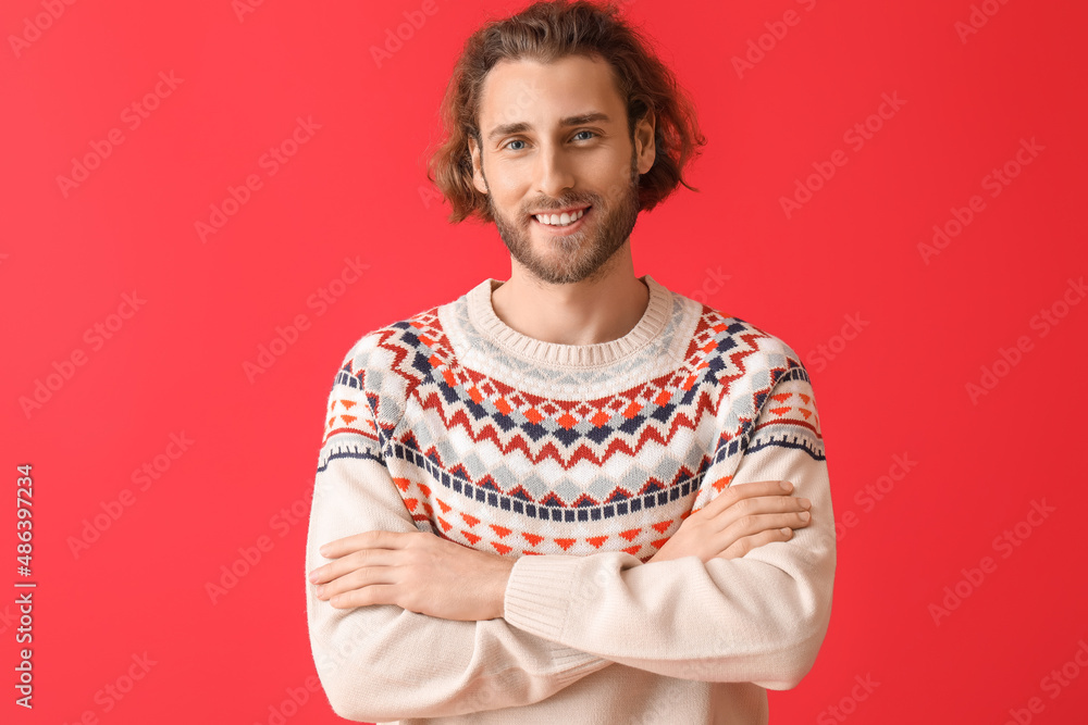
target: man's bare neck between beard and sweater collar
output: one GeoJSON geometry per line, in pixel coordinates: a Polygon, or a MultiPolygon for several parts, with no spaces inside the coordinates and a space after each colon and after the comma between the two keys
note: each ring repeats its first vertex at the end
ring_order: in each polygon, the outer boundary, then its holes
{"type": "Polygon", "coordinates": [[[514,262],[510,278],[492,292],[495,315],[544,342],[594,345],[630,333],[650,304],[650,288],[634,276],[628,254],[597,279],[548,285],[514,262]]]}

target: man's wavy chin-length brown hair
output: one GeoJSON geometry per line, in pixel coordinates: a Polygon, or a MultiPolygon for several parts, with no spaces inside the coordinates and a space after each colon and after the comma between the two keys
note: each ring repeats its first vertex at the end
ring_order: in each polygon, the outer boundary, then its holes
{"type": "Polygon", "coordinates": [[[610,64],[627,107],[628,133],[647,111],[655,117],[656,158],[639,178],[639,209],[651,210],[676,190],[682,172],[706,145],[695,107],[672,72],[650,50],[642,34],[628,25],[615,2],[589,0],[535,2],[517,15],[489,21],[465,42],[446,86],[442,122],[446,138],[432,154],[426,177],[449,200],[449,222],[475,215],[493,222],[486,195],[472,184],[468,139],[481,147],[479,103],[487,73],[502,60],[552,63],[567,55],[598,58],[610,64]]]}

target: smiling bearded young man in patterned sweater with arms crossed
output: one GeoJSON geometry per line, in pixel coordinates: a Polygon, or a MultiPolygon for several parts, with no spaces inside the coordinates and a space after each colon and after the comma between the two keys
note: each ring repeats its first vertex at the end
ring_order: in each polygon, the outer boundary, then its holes
{"type": "Polygon", "coordinates": [[[510,277],[371,332],[329,413],[307,616],[339,715],[766,723],[827,629],[834,534],[798,355],[635,277],[703,139],[615,11],[470,38],[436,157],[510,277]]]}

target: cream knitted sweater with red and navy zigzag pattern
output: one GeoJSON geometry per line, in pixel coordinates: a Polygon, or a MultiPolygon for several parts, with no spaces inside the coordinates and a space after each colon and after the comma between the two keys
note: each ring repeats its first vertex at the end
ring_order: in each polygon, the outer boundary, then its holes
{"type": "Polygon", "coordinates": [[[364,530],[515,559],[505,616],[334,609],[307,583],[317,672],[362,722],[730,723],[812,667],[834,528],[808,375],[784,342],[670,292],[623,337],[549,343],[485,279],[364,335],[329,396],[306,571],[364,530]],[[791,480],[813,523],[739,559],[646,563],[726,486],[791,480]]]}

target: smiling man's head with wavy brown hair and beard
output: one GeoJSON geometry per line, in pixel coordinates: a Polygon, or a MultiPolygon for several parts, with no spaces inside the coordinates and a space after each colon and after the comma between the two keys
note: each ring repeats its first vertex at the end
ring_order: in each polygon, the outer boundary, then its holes
{"type": "Polygon", "coordinates": [[[585,0],[537,2],[473,34],[443,116],[429,178],[450,222],[494,221],[554,284],[597,271],[639,211],[688,186],[681,171],[706,142],[671,72],[615,8],[585,0]],[[572,208],[588,211],[565,232],[534,216],[572,208]]]}

